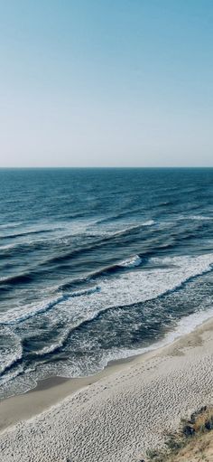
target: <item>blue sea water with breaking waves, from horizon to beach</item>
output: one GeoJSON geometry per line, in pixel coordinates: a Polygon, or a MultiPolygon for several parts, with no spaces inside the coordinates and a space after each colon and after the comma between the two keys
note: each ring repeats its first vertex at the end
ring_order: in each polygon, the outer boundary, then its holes
{"type": "Polygon", "coordinates": [[[0,396],[213,315],[213,169],[0,170],[0,396]]]}

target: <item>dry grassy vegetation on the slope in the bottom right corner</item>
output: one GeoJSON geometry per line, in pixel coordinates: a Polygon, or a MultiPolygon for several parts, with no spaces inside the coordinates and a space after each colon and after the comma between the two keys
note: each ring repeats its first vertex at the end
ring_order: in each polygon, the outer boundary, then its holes
{"type": "Polygon", "coordinates": [[[213,462],[213,407],[181,420],[181,429],[169,435],[164,451],[147,451],[147,462],[213,462]]]}

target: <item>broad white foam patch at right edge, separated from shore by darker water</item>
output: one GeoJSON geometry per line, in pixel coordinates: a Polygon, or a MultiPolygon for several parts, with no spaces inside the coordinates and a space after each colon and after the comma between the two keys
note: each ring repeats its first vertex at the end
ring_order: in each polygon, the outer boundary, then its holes
{"type": "Polygon", "coordinates": [[[213,254],[193,257],[153,259],[164,268],[130,270],[116,278],[98,281],[99,291],[69,298],[56,306],[49,316],[68,319],[71,325],[93,319],[98,313],[116,306],[131,306],[162,296],[170,290],[181,287],[188,279],[199,276],[211,269],[213,254]],[[166,267],[167,265],[167,267],[166,267]],[[171,266],[172,265],[172,266],[171,266]],[[57,312],[55,312],[57,310],[57,312]]]}

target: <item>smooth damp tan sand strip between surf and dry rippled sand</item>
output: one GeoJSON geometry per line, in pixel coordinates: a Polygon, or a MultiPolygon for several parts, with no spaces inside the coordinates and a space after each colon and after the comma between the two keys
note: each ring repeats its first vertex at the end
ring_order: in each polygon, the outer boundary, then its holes
{"type": "MultiPolygon", "coordinates": [[[[72,395],[76,391],[80,391],[85,387],[92,385],[93,383],[101,381],[103,378],[110,376],[114,372],[123,371],[126,369],[126,367],[131,366],[134,363],[143,363],[151,359],[153,356],[158,357],[159,355],[167,354],[170,350],[175,350],[179,347],[181,348],[183,344],[190,341],[190,339],[208,330],[213,331],[213,316],[209,317],[207,320],[204,320],[190,333],[182,334],[177,338],[174,338],[171,343],[163,344],[162,340],[161,342],[157,342],[156,344],[148,347],[150,349],[145,353],[133,354],[132,356],[110,361],[107,363],[106,367],[102,371],[97,372],[97,374],[77,378],[51,376],[42,379],[38,381],[36,387],[32,388],[31,390],[0,400],[0,432],[3,429],[6,429],[9,425],[14,425],[14,423],[19,420],[31,419],[33,416],[40,414],[43,410],[48,410],[52,405],[59,403],[67,396],[72,395]],[[50,390],[52,391],[51,395],[48,394],[50,390]],[[43,399],[41,396],[42,394],[43,399]],[[31,395],[33,395],[33,402],[36,402],[36,406],[33,406],[36,408],[36,410],[23,410],[24,401],[26,404],[29,404],[31,401],[31,395]],[[2,416],[4,415],[4,411],[8,416],[8,411],[13,408],[14,413],[14,408],[16,406],[19,407],[19,401],[22,401],[20,405],[20,418],[14,419],[9,425],[2,425],[2,416]],[[40,405],[38,401],[41,401],[40,405]],[[43,401],[45,401],[45,404],[43,401]],[[39,410],[37,406],[39,406],[39,410]]],[[[169,333],[169,335],[171,334],[173,334],[173,332],[169,333]]]]}

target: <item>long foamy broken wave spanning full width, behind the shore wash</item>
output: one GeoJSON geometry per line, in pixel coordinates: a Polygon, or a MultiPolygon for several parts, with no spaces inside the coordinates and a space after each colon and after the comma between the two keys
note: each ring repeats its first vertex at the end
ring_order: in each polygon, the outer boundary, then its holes
{"type": "Polygon", "coordinates": [[[155,268],[125,271],[116,278],[99,278],[96,287],[60,294],[44,300],[39,306],[19,306],[1,314],[0,325],[15,325],[52,308],[58,308],[55,316],[64,314],[64,318],[69,318],[70,325],[79,325],[112,307],[131,306],[181,288],[191,278],[212,269],[213,254],[153,258],[150,264],[155,268]]]}

